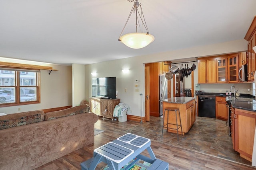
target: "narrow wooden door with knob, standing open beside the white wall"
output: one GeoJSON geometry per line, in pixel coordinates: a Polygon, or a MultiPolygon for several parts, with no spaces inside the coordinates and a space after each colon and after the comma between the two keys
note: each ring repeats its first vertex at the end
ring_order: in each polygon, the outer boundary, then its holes
{"type": "Polygon", "coordinates": [[[150,106],[150,86],[149,86],[149,66],[145,66],[145,118],[146,121],[150,121],[149,106],[150,106]]]}

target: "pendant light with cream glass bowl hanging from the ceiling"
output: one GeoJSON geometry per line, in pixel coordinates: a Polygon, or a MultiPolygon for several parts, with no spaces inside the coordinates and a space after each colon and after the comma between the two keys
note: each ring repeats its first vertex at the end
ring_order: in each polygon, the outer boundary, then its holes
{"type": "MultiPolygon", "coordinates": [[[[129,0],[129,2],[134,2],[134,0],[129,0]]],[[[142,12],[141,4],[138,2],[138,0],[135,0],[134,5],[132,6],[130,15],[128,16],[128,19],[124,25],[124,28],[119,36],[118,41],[121,41],[126,46],[132,49],[141,49],[143,47],[146,47],[155,39],[153,35],[149,34],[148,27],[142,12]],[[138,7],[140,7],[140,12],[138,11],[138,7]],[[122,33],[124,32],[124,28],[126,27],[126,24],[128,23],[132,12],[136,14],[136,32],[122,35],[122,33]],[[146,33],[138,32],[138,25],[140,29],[145,28],[146,33]]]]}

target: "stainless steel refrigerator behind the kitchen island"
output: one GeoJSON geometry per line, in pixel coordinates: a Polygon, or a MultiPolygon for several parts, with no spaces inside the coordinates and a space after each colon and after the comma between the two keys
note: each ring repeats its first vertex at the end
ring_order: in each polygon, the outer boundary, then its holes
{"type": "Polygon", "coordinates": [[[159,76],[159,116],[163,115],[163,100],[168,98],[168,80],[165,76],[159,76]]]}

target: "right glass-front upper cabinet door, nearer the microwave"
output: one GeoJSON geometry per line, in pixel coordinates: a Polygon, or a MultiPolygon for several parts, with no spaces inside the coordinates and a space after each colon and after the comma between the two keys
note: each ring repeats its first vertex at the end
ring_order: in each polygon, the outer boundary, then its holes
{"type": "Polygon", "coordinates": [[[228,82],[238,82],[238,55],[239,53],[228,56],[228,82]]]}

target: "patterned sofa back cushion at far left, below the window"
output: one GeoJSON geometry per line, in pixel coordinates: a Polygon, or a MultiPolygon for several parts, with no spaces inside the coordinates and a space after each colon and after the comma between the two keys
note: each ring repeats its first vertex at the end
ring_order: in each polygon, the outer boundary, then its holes
{"type": "Polygon", "coordinates": [[[44,111],[28,111],[0,116],[0,129],[44,121],[44,111]]]}

